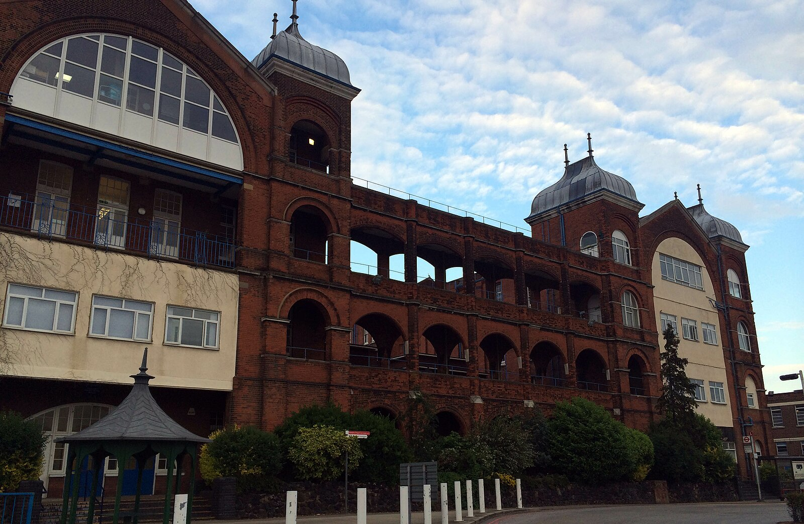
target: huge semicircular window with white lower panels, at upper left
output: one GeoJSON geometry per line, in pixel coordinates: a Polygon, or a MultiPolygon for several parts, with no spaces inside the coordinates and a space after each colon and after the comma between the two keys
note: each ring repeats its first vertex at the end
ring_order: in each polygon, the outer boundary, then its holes
{"type": "Polygon", "coordinates": [[[86,34],[48,44],[18,73],[14,105],[243,169],[237,132],[206,82],[161,47],[86,34]]]}

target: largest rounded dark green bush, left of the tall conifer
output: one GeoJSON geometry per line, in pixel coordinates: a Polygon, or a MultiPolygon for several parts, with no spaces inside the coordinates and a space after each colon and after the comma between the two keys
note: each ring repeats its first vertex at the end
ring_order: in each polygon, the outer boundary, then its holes
{"type": "Polygon", "coordinates": [[[552,466],[571,480],[602,484],[634,478],[650,455],[644,441],[630,435],[625,424],[579,397],[556,403],[548,429],[552,466]]]}

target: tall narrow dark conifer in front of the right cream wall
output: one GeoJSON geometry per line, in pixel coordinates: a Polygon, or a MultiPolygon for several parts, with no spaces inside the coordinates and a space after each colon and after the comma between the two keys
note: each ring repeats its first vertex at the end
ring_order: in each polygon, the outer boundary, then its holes
{"type": "Polygon", "coordinates": [[[658,405],[664,410],[671,424],[681,427],[690,424],[698,405],[695,403],[695,384],[687,379],[687,358],[679,357],[679,336],[671,325],[664,330],[664,351],[659,354],[662,361],[662,396],[658,405]]]}

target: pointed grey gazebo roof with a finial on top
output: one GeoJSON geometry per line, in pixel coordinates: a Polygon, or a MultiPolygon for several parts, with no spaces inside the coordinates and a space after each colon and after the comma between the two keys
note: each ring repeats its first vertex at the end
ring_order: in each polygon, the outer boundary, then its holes
{"type": "Polygon", "coordinates": [[[187,431],[171,419],[150,394],[146,366],[148,349],[142,354],[142,366],[134,379],[129,396],[114,411],[84,430],[59,439],[60,442],[80,442],[93,440],[181,440],[185,442],[206,443],[211,440],[187,431]]]}

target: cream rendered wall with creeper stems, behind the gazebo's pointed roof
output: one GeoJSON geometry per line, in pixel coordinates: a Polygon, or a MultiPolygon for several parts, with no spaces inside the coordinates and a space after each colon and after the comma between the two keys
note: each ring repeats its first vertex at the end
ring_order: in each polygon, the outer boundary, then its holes
{"type": "Polygon", "coordinates": [[[0,329],[0,350],[12,358],[10,375],[129,384],[147,346],[155,386],[232,391],[235,274],[9,233],[0,233],[0,264],[4,313],[8,282],[79,292],[75,334],[0,329]],[[151,342],[88,337],[92,293],[154,302],[151,342]],[[219,311],[219,349],[163,344],[166,305],[219,311]]]}

